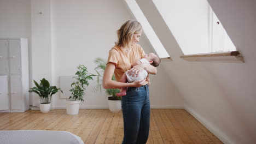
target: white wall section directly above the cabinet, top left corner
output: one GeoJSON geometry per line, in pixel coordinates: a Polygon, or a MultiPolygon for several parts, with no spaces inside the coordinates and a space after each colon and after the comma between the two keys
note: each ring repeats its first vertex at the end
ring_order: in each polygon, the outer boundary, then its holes
{"type": "Polygon", "coordinates": [[[30,0],[1,0],[0,19],[1,38],[31,37],[30,0]]]}

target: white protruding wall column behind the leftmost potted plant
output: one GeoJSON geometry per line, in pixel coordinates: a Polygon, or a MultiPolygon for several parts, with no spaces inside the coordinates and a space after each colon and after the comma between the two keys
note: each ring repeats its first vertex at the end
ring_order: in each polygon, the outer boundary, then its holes
{"type": "MultiPolygon", "coordinates": [[[[32,79],[45,78],[52,82],[52,46],[51,46],[51,1],[31,1],[31,48],[32,79]]],[[[31,80],[32,81],[32,80],[31,80]]],[[[34,84],[33,84],[34,86],[34,84]]],[[[32,104],[39,106],[39,97],[33,93],[32,104]]]]}

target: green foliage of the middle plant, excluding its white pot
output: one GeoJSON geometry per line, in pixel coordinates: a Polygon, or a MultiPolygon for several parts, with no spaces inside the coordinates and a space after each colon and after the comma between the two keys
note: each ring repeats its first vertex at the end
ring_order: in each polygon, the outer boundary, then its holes
{"type": "Polygon", "coordinates": [[[77,72],[75,73],[75,81],[71,84],[72,89],[69,91],[72,92],[69,99],[72,100],[81,100],[84,101],[84,92],[86,90],[86,87],[89,86],[89,80],[93,80],[93,77],[96,76],[97,79],[99,75],[90,74],[87,71],[87,68],[84,65],[79,64],[77,67],[77,72]]]}

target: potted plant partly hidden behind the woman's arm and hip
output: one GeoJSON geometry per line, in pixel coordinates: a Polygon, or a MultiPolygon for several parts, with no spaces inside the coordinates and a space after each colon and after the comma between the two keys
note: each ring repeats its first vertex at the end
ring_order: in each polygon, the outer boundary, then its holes
{"type": "MultiPolygon", "coordinates": [[[[96,58],[94,63],[97,65],[95,70],[101,70],[102,73],[106,69],[106,60],[103,58],[96,58]]],[[[98,73],[98,72],[97,72],[98,73]]],[[[100,75],[100,73],[98,73],[100,75]]],[[[100,75],[101,76],[101,75],[100,75]]],[[[112,80],[115,81],[115,76],[112,76],[112,80]]],[[[101,88],[100,79],[97,79],[97,90],[101,88]]],[[[112,113],[118,113],[121,110],[121,97],[117,97],[117,93],[120,92],[120,89],[105,89],[106,94],[108,95],[108,107],[112,113]]]]}

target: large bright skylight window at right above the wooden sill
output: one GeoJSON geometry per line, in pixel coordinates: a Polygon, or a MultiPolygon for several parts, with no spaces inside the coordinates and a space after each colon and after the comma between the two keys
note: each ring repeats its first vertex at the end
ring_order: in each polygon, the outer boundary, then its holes
{"type": "Polygon", "coordinates": [[[184,55],[236,51],[206,0],[152,1],[184,55]]]}

